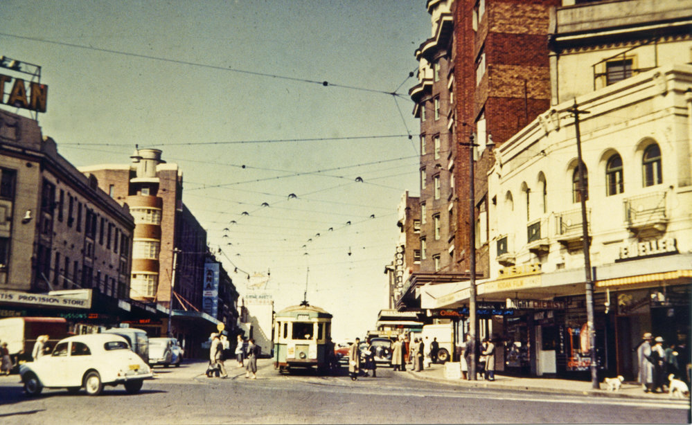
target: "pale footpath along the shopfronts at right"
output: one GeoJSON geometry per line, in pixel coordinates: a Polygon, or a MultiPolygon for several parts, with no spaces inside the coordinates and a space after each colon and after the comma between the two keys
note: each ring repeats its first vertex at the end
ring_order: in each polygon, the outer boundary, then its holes
{"type": "MultiPolygon", "coordinates": [[[[562,395],[591,395],[598,397],[627,397],[632,399],[659,399],[669,400],[668,393],[644,392],[639,383],[623,382],[619,391],[608,391],[604,383],[600,383],[600,389],[592,388],[591,381],[573,381],[571,379],[559,378],[538,378],[538,377],[514,377],[503,375],[502,372],[495,372],[495,381],[468,381],[461,379],[459,363],[445,363],[430,365],[420,372],[414,372],[411,365],[407,365],[408,377],[448,383],[455,386],[468,388],[488,388],[502,390],[531,390],[538,392],[559,393],[562,395]]],[[[673,399],[676,400],[676,399],[673,399]]],[[[690,399],[677,399],[681,402],[690,403],[690,399]]]]}

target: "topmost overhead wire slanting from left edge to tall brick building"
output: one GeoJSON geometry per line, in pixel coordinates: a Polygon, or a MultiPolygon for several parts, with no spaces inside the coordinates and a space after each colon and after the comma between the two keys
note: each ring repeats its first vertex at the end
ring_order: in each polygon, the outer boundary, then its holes
{"type": "Polygon", "coordinates": [[[140,59],[156,60],[159,62],[168,62],[171,64],[197,66],[200,68],[215,69],[218,71],[229,71],[229,72],[242,73],[242,74],[247,74],[247,75],[256,75],[259,77],[276,78],[278,80],[289,80],[289,81],[295,81],[295,82],[304,82],[304,83],[308,83],[308,84],[319,84],[323,87],[337,87],[340,89],[350,89],[350,90],[357,90],[357,91],[366,91],[369,93],[386,94],[388,96],[400,96],[402,98],[404,97],[404,95],[402,95],[400,93],[394,93],[394,92],[385,91],[385,90],[366,89],[364,87],[347,86],[344,84],[334,84],[334,83],[330,83],[328,81],[307,80],[305,78],[287,77],[286,75],[276,75],[276,74],[270,74],[270,73],[261,73],[261,72],[257,72],[257,71],[247,71],[245,69],[231,68],[231,66],[200,64],[199,62],[190,62],[190,61],[186,61],[186,60],[169,59],[168,57],[159,57],[159,56],[152,56],[152,55],[142,55],[141,53],[130,53],[130,52],[124,52],[124,51],[116,51],[116,50],[113,50],[110,48],[84,46],[82,44],[74,44],[74,43],[68,43],[68,42],[56,42],[54,40],[42,39],[39,37],[27,37],[26,35],[0,33],[0,36],[17,38],[17,39],[24,39],[24,40],[29,40],[32,42],[55,44],[57,46],[82,48],[82,49],[90,50],[90,51],[97,51],[97,52],[102,52],[102,53],[112,53],[114,55],[139,57],[140,59]]]}

